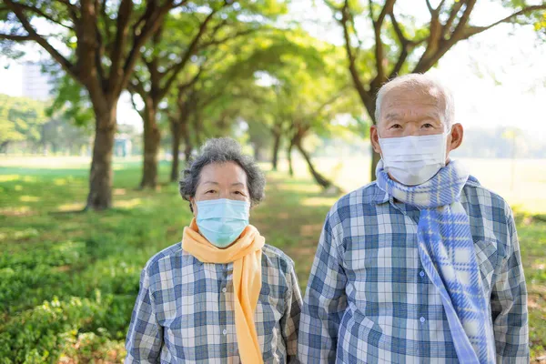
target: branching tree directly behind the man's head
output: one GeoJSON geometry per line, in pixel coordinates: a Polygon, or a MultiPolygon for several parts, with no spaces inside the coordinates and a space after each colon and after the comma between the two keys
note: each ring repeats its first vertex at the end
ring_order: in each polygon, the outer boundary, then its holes
{"type": "MultiPolygon", "coordinates": [[[[489,25],[472,25],[471,15],[477,0],[441,0],[436,6],[426,0],[430,22],[420,27],[409,15],[401,14],[395,6],[396,0],[369,0],[366,5],[359,0],[324,1],[343,30],[349,74],[373,124],[377,121],[377,93],[389,79],[401,74],[424,73],[460,41],[503,23],[534,24],[535,29],[540,30],[541,14],[546,9],[546,4],[503,1],[510,15],[489,25]],[[373,34],[372,49],[359,37],[357,22],[366,24],[373,34]]],[[[379,155],[372,149],[372,156],[373,177],[379,155]]]]}

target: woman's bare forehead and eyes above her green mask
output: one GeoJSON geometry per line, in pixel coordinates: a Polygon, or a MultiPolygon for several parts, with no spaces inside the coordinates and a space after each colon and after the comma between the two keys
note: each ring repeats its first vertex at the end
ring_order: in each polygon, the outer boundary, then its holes
{"type": "Polygon", "coordinates": [[[197,217],[197,201],[219,198],[250,203],[247,173],[235,162],[212,163],[201,169],[196,196],[190,198],[194,216],[197,217]]]}

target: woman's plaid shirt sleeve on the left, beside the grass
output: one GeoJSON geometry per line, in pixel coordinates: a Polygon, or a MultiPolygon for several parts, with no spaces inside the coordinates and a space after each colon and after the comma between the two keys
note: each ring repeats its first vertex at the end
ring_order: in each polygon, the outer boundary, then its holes
{"type": "Polygon", "coordinates": [[[157,323],[155,303],[149,290],[147,268],[140,275],[140,290],[126,339],[126,363],[158,363],[163,328],[157,323]]]}

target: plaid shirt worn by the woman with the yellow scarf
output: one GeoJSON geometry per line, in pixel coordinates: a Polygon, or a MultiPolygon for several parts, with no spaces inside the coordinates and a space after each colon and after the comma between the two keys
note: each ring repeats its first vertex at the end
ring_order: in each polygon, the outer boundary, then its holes
{"type": "MultiPolygon", "coordinates": [[[[262,248],[254,322],[265,363],[297,362],[301,294],[294,264],[262,248]]],[[[239,363],[233,263],[201,263],[178,243],[151,258],[126,339],[126,363],[239,363]]]]}

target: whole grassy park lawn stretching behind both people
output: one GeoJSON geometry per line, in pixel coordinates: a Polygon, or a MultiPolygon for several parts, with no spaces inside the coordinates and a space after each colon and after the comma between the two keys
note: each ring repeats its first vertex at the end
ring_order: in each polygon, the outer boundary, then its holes
{"type": "MultiPolygon", "coordinates": [[[[179,241],[191,217],[176,185],[135,189],[136,161],[115,164],[115,208],[71,212],[83,207],[86,162],[0,159],[0,363],[121,361],[140,270],[179,241]]],[[[336,172],[327,160],[321,167],[336,172]]],[[[349,190],[359,174],[346,168],[333,176],[349,190]]],[[[167,171],[162,165],[161,176],[167,171]]],[[[546,177],[524,183],[546,183],[546,177]]],[[[305,288],[323,219],[337,197],[324,196],[303,172],[293,179],[268,172],[267,194],[251,222],[295,260],[305,288]]],[[[546,203],[531,202],[535,212],[524,212],[523,204],[517,219],[538,359],[546,354],[546,216],[537,212],[546,203]]]]}

